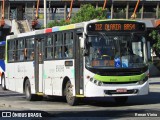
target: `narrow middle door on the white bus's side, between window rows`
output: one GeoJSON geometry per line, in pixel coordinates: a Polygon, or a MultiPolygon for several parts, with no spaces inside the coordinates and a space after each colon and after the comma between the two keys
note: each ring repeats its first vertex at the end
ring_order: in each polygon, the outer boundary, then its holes
{"type": "Polygon", "coordinates": [[[34,59],[34,73],[35,73],[35,91],[43,92],[43,37],[35,38],[35,59],[34,59]]]}

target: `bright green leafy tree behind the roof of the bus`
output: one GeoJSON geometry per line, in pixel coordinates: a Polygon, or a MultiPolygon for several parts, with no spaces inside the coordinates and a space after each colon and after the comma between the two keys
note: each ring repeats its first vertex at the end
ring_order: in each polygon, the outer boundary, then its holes
{"type": "Polygon", "coordinates": [[[47,24],[47,28],[51,28],[54,26],[62,26],[71,23],[79,23],[83,21],[89,21],[93,19],[105,19],[106,11],[102,10],[102,7],[95,8],[91,4],[82,5],[79,11],[71,18],[70,22],[66,22],[65,20],[54,20],[47,24]]]}

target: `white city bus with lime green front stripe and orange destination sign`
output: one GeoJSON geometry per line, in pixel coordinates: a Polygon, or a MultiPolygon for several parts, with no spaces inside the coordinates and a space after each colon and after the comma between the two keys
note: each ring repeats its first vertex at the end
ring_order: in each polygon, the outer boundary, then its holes
{"type": "Polygon", "coordinates": [[[134,20],[91,20],[7,36],[6,89],[26,99],[147,95],[146,26],[134,20]]]}

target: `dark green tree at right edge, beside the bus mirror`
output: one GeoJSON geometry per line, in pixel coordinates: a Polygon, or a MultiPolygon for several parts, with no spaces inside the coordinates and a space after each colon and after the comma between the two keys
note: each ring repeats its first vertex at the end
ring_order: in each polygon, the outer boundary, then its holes
{"type": "Polygon", "coordinates": [[[151,43],[152,49],[155,52],[155,54],[160,58],[160,31],[159,30],[153,30],[149,36],[152,38],[151,43]]]}

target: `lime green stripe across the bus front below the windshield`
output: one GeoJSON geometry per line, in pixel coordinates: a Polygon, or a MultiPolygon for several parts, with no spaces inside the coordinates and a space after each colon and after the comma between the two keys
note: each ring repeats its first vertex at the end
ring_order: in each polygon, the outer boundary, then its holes
{"type": "Polygon", "coordinates": [[[133,82],[140,81],[146,77],[146,74],[133,76],[100,76],[95,75],[93,78],[102,82],[133,82]]]}

